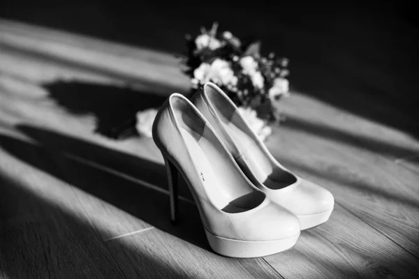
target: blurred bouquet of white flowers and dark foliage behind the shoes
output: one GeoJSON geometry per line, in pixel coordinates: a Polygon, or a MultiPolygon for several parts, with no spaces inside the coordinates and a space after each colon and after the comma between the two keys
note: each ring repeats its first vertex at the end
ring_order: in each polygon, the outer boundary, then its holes
{"type": "Polygon", "coordinates": [[[289,94],[288,59],[273,52],[263,56],[259,41],[240,40],[229,31],[221,33],[216,23],[210,30],[202,28],[195,38],[187,35],[186,43],[187,56],[182,62],[192,90],[214,82],[244,112],[244,118],[258,127],[254,126],[257,134],[263,129],[269,132],[268,124],[280,119],[277,100],[289,94]]]}

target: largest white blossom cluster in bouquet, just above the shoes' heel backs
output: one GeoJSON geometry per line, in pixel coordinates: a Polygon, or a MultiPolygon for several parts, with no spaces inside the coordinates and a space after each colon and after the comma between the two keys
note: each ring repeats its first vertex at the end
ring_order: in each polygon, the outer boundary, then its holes
{"type": "Polygon", "coordinates": [[[193,71],[193,77],[193,80],[198,80],[200,84],[212,81],[220,86],[225,85],[232,88],[237,85],[237,77],[230,68],[230,64],[222,59],[215,59],[211,65],[209,63],[201,63],[193,71]]]}

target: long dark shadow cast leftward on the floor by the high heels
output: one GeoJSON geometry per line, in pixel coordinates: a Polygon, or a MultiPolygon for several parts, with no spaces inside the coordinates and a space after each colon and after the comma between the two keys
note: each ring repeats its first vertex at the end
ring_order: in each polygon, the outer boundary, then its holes
{"type": "MultiPolygon", "coordinates": [[[[133,176],[134,179],[147,181],[165,189],[167,183],[164,165],[51,130],[25,125],[17,126],[17,129],[41,144],[41,146],[29,144],[11,137],[2,139],[3,148],[17,158],[157,229],[205,250],[210,250],[195,204],[180,199],[179,222],[177,225],[172,225],[169,218],[168,195],[124,177],[124,175],[133,176]],[[53,158],[51,159],[50,156],[53,158]],[[107,169],[122,172],[124,175],[118,176],[114,172],[92,167],[81,163],[80,160],[74,160],[74,157],[96,165],[103,165],[107,169]]],[[[181,191],[181,195],[182,192],[184,191],[181,191]]]]}

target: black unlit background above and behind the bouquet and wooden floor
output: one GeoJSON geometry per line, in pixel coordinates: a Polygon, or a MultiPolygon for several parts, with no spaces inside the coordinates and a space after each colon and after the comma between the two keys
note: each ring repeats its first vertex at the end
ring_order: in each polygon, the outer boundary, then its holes
{"type": "Polygon", "coordinates": [[[184,35],[217,21],[290,60],[291,86],[419,134],[413,1],[8,1],[0,17],[182,54],[184,35]],[[211,4],[210,4],[211,3],[211,4]],[[228,5],[226,5],[228,3],[228,5]]]}

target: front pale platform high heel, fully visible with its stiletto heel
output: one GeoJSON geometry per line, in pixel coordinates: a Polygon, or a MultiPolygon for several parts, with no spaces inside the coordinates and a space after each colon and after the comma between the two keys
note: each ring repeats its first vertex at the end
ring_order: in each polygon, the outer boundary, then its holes
{"type": "Polygon", "coordinates": [[[154,120],[153,139],[166,161],[172,221],[176,220],[179,172],[215,252],[263,257],[295,245],[300,236],[298,218],[253,186],[187,98],[173,93],[166,100],[154,120]]]}

